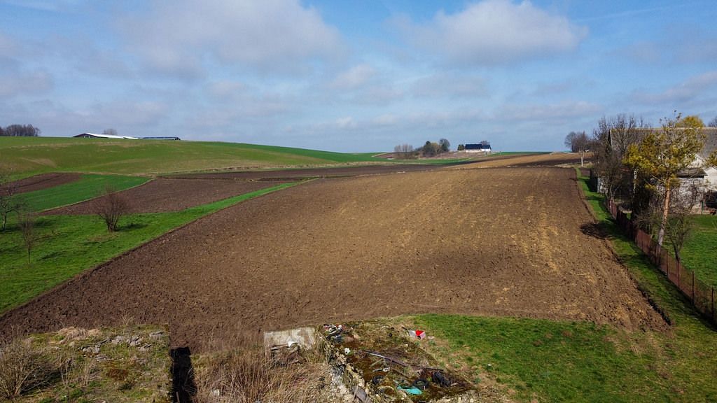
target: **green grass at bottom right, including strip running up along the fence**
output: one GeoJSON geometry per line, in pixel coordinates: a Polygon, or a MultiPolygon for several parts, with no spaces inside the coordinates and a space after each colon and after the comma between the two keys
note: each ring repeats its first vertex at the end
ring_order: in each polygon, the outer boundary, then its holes
{"type": "Polygon", "coordinates": [[[514,391],[518,401],[715,402],[717,332],[617,231],[602,196],[580,186],[615,252],[673,322],[670,331],[515,318],[416,318],[447,340],[445,355],[514,391]],[[491,364],[488,366],[488,364],[491,364]]]}

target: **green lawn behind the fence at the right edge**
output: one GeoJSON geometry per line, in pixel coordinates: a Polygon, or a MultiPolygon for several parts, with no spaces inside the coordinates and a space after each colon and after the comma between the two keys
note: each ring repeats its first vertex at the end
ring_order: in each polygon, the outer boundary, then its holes
{"type": "Polygon", "coordinates": [[[695,276],[717,288],[717,216],[691,217],[695,224],[692,236],[682,250],[682,260],[695,276]]]}

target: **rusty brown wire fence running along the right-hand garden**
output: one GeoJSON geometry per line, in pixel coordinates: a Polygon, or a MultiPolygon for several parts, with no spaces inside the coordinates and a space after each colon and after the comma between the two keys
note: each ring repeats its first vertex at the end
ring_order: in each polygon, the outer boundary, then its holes
{"type": "Polygon", "coordinates": [[[637,225],[630,220],[630,217],[627,217],[625,212],[620,211],[617,204],[614,204],[612,200],[608,201],[607,208],[617,225],[632,240],[635,240],[637,247],[650,257],[652,263],[660,267],[660,270],[665,273],[667,278],[677,285],[677,288],[689,298],[703,316],[712,323],[717,324],[714,287],[706,285],[699,278],[695,278],[695,272],[681,265],[664,248],[657,245],[657,242],[652,240],[650,234],[637,228],[637,225]]]}

